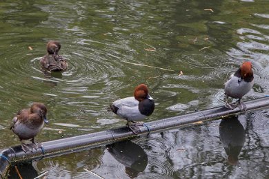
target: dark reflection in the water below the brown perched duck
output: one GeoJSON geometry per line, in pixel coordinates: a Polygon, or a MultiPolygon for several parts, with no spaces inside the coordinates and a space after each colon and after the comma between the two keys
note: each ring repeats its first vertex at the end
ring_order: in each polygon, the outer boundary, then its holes
{"type": "MultiPolygon", "coordinates": [[[[32,163],[25,163],[23,165],[17,165],[17,169],[19,171],[19,174],[21,175],[21,178],[36,178],[38,175],[37,171],[32,166],[32,163]]],[[[17,170],[14,166],[10,168],[10,174],[8,178],[20,178],[17,170]]]]}

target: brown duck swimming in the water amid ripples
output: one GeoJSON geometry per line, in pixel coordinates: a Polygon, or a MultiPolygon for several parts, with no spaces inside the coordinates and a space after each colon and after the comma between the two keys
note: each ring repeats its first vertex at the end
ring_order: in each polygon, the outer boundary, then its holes
{"type": "Polygon", "coordinates": [[[50,72],[62,72],[67,70],[66,59],[58,54],[61,44],[58,41],[49,41],[47,44],[47,54],[40,60],[41,69],[50,72]]]}

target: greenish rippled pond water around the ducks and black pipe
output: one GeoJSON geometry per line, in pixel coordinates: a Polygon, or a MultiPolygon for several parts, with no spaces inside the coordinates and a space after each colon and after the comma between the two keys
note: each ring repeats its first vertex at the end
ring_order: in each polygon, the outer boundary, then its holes
{"type": "MultiPolygon", "coordinates": [[[[0,148],[20,144],[9,125],[34,101],[48,107],[50,124],[37,136],[46,141],[125,125],[107,107],[139,83],[155,98],[147,121],[221,106],[223,83],[246,60],[255,85],[243,101],[265,96],[268,7],[255,0],[1,1],[0,148]],[[69,69],[44,76],[39,60],[51,39],[61,42],[69,69]]],[[[45,171],[46,178],[98,178],[88,171],[102,178],[269,178],[268,115],[247,112],[19,168],[26,178],[45,171]]]]}

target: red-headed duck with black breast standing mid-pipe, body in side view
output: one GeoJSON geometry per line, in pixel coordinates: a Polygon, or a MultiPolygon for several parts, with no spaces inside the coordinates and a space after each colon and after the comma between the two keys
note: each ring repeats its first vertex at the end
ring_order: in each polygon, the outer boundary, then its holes
{"type": "Polygon", "coordinates": [[[154,112],[155,102],[149,94],[148,86],[142,83],[135,87],[134,96],[114,101],[110,109],[117,116],[125,118],[128,127],[137,134],[140,131],[139,125],[143,125],[141,121],[154,112]]]}

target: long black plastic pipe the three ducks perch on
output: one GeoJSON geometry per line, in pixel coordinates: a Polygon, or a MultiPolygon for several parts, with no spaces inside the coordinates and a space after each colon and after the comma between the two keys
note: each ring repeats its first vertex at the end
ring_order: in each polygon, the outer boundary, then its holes
{"type": "Polygon", "coordinates": [[[0,151],[0,176],[2,178],[5,177],[10,165],[14,165],[19,162],[28,162],[31,160],[41,160],[43,158],[61,156],[63,154],[70,154],[76,151],[83,151],[94,147],[100,147],[102,145],[112,144],[128,138],[135,138],[137,136],[146,135],[149,132],[153,133],[173,128],[186,127],[188,125],[194,125],[195,123],[207,120],[225,118],[227,116],[241,114],[246,111],[269,107],[269,98],[259,98],[252,101],[246,101],[244,103],[246,105],[245,111],[241,111],[239,108],[230,110],[226,109],[226,107],[215,107],[190,114],[184,114],[182,116],[175,116],[144,123],[144,125],[140,127],[141,132],[137,135],[133,134],[128,127],[121,127],[118,129],[108,129],[106,131],[99,131],[92,134],[84,134],[81,136],[43,142],[40,143],[41,147],[39,147],[37,151],[29,151],[27,153],[21,149],[21,145],[10,147],[0,151]]]}

